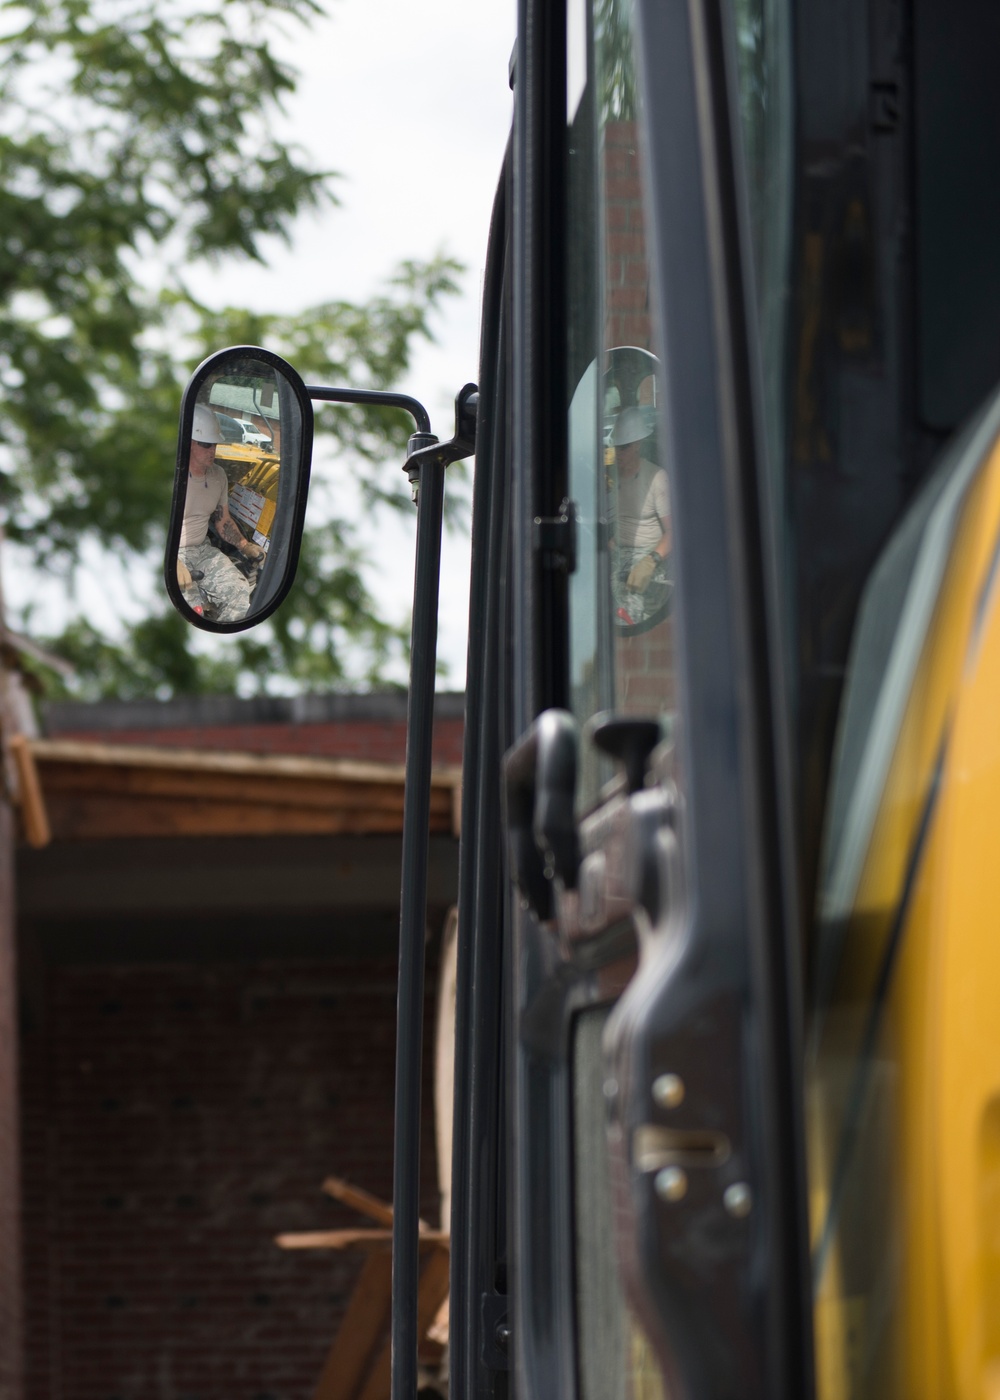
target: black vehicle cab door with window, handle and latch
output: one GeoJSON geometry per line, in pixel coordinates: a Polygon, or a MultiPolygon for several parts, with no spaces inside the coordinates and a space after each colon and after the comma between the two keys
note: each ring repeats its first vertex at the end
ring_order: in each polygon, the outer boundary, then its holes
{"type": "Polygon", "coordinates": [[[790,122],[779,8],[521,7],[504,791],[525,1400],[812,1387],[772,332],[744,217],[765,127],[790,122]]]}

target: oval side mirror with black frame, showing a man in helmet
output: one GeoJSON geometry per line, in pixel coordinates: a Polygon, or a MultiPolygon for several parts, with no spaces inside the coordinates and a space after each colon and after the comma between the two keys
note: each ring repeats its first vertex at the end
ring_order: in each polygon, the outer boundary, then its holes
{"type": "Polygon", "coordinates": [[[280,356],[234,346],[204,360],[181,402],[164,580],[207,631],[263,622],[296,577],[312,403],[280,356]]]}

